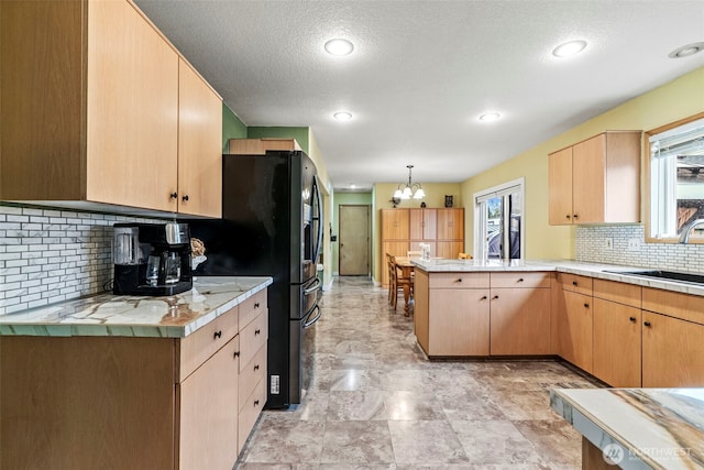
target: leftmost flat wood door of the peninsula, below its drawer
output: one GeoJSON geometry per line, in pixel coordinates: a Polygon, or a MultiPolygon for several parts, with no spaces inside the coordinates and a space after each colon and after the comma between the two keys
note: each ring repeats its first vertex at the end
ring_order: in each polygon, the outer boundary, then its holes
{"type": "Polygon", "coordinates": [[[428,356],[488,356],[488,289],[430,289],[428,356]]]}

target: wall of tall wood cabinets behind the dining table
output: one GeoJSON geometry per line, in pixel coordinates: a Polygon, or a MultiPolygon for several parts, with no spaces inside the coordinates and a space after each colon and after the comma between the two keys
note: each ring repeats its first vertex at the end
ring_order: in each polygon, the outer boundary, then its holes
{"type": "Polygon", "coordinates": [[[406,256],[419,243],[430,245],[430,255],[455,259],[464,251],[464,209],[381,209],[382,284],[388,285],[386,253],[406,256]]]}

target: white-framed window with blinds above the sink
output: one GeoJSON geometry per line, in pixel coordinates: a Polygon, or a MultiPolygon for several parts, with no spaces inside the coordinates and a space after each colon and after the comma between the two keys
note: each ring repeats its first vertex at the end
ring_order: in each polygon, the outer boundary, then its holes
{"type": "MultiPolygon", "coordinates": [[[[646,135],[649,240],[674,241],[690,223],[704,219],[704,114],[646,135]]],[[[697,232],[692,233],[693,240],[702,238],[697,232]]]]}

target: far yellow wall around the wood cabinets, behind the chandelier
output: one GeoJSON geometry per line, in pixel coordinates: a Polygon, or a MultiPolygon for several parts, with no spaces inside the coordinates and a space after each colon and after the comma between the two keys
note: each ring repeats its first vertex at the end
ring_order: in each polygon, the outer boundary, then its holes
{"type": "MultiPolygon", "coordinates": [[[[376,283],[381,283],[382,280],[382,216],[380,209],[391,209],[394,207],[391,199],[397,187],[398,183],[377,183],[372,190],[372,230],[374,237],[372,243],[374,250],[372,273],[376,283]]],[[[426,207],[428,208],[444,207],[446,195],[454,196],[453,207],[463,207],[462,187],[460,183],[422,183],[422,189],[426,193],[424,199],[404,200],[397,207],[416,208],[420,207],[420,203],[426,203],[426,207]]],[[[466,218],[466,214],[464,217],[466,218]]]]}

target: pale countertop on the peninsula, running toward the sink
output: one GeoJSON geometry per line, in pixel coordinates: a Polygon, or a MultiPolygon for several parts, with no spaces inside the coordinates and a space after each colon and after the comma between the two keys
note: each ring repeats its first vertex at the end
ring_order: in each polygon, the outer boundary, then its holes
{"type": "Polygon", "coordinates": [[[579,274],[607,281],[617,281],[627,284],[636,284],[644,287],[661,288],[666,291],[679,292],[682,294],[704,296],[704,285],[667,281],[660,278],[648,278],[627,274],[608,273],[605,271],[638,271],[652,270],[641,266],[625,266],[618,264],[594,264],[582,263],[571,260],[447,260],[430,259],[411,260],[416,267],[428,273],[442,272],[510,272],[510,271],[557,271],[560,273],[579,274]]]}

